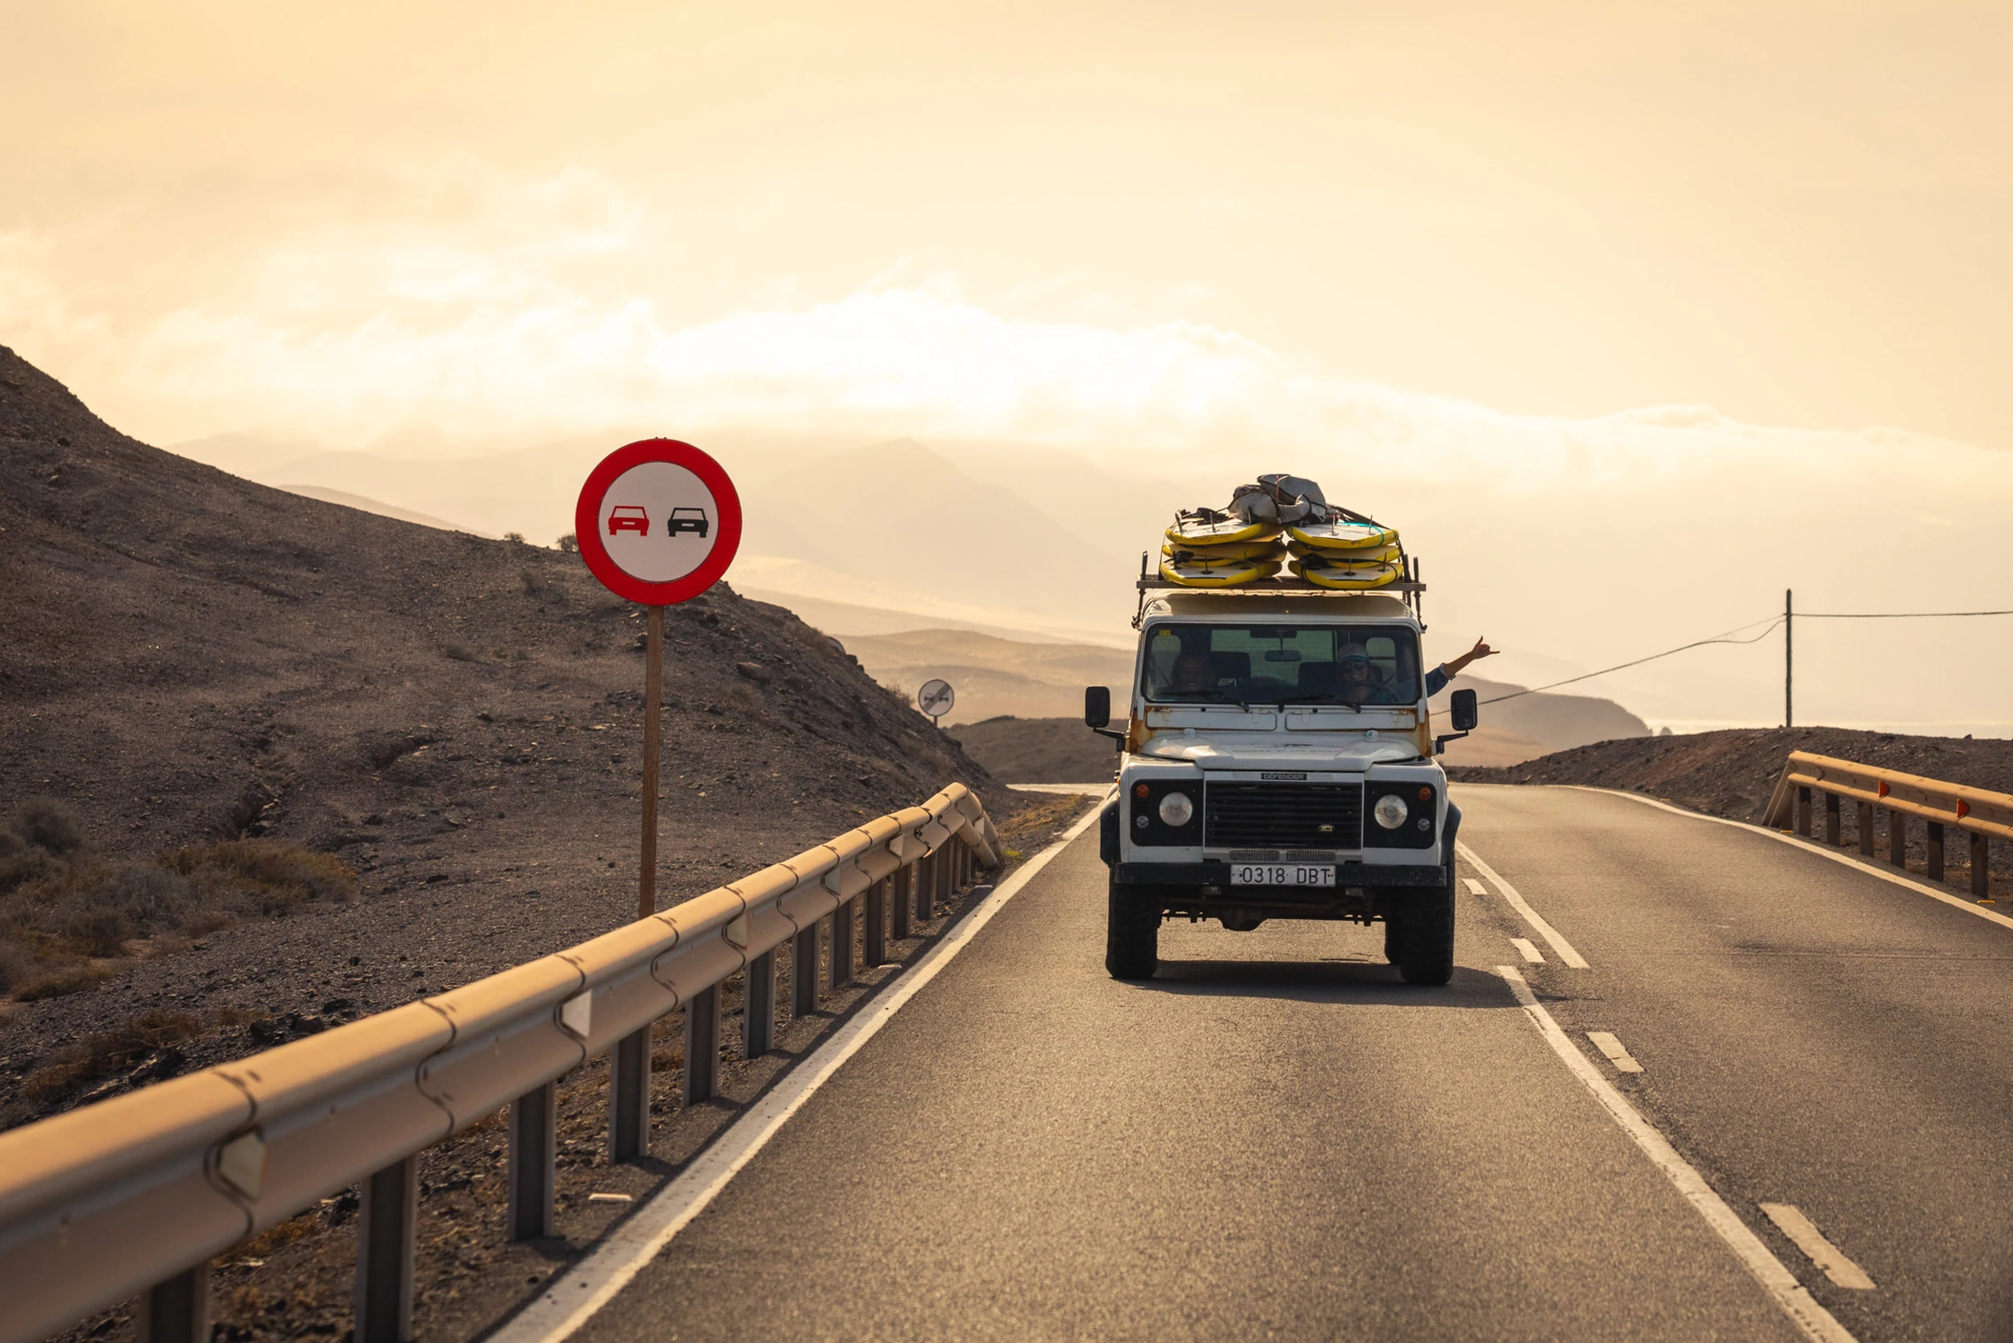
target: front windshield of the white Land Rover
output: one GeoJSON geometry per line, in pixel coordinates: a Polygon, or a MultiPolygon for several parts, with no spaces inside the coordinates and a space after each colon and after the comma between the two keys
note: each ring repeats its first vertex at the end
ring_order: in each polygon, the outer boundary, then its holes
{"type": "Polygon", "coordinates": [[[1419,644],[1387,624],[1155,624],[1145,697],[1157,705],[1415,705],[1419,644]]]}

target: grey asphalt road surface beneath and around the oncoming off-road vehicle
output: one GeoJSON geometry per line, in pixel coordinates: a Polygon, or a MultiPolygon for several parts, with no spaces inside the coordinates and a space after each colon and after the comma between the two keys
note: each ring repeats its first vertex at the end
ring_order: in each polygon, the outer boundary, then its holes
{"type": "Polygon", "coordinates": [[[1445,989],[1343,924],[1170,924],[1119,985],[1091,832],[576,1337],[1802,1337],[1502,964],[1858,1339],[2013,1333],[2013,930],[1620,797],[1459,797],[1590,968],[1463,888],[1445,989]]]}

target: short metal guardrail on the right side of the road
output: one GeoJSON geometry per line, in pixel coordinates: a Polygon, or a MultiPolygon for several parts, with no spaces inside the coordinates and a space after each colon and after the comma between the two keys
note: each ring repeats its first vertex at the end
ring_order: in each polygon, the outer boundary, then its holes
{"type": "Polygon", "coordinates": [[[1850,799],[1856,813],[1860,854],[1874,854],[1874,809],[1886,811],[1888,862],[1904,868],[1908,862],[1908,817],[1920,817],[1926,828],[1928,878],[1943,880],[1945,838],[1949,828],[1971,840],[1971,896],[1991,898],[1989,840],[2013,840],[2013,795],[1983,787],[1924,779],[1898,769],[1858,765],[1830,755],[1792,751],[1784,761],[1775,793],[1769,797],[1763,822],[1812,834],[1816,795],[1824,795],[1824,838],[1842,844],[1842,803],[1850,799]]]}

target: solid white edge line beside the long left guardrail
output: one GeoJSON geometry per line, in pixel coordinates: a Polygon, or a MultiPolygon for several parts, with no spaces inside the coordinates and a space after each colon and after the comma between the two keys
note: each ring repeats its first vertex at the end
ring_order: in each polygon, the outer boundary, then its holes
{"type": "MultiPolygon", "coordinates": [[[[1109,791],[1109,789],[1107,789],[1109,791]]],[[[860,1053],[902,1007],[916,997],[994,914],[1013,900],[1049,860],[1097,824],[1091,809],[1061,840],[1029,858],[978,908],[964,916],[922,960],[868,1001],[858,1017],[839,1027],[811,1057],[793,1067],[747,1113],[729,1124],[676,1180],[638,1208],[572,1271],[552,1279],[537,1301],[523,1307],[487,1343],[560,1343],[628,1287],[644,1264],[670,1244],[707,1204],[769,1146],[769,1140],[811,1099],[839,1067],[860,1053]]]]}

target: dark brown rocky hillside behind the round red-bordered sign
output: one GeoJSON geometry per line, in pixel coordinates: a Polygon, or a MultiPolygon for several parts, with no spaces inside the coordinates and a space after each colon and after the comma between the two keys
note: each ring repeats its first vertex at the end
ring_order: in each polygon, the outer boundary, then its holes
{"type": "MultiPolygon", "coordinates": [[[[634,916],[642,628],[578,556],[157,451],[0,348],[0,813],[50,797],[109,860],[264,836],[360,878],[340,918],[129,946],[14,1007],[0,1085],[143,1007],[360,1015],[634,916]]],[[[660,902],[950,779],[1013,807],[793,614],[719,586],[666,632],[660,902]]]]}

